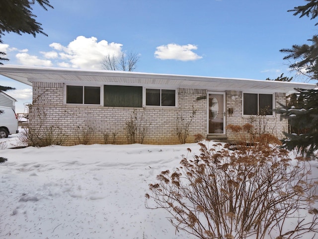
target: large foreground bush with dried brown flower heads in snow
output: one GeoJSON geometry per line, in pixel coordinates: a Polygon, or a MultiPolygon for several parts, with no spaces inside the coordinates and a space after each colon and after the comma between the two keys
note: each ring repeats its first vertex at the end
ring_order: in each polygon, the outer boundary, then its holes
{"type": "Polygon", "coordinates": [[[200,239],[314,238],[317,182],[306,160],[293,161],[275,142],[264,135],[258,144],[232,152],[199,143],[200,155],[183,158],[149,185],[146,206],[165,209],[176,230],[200,239]],[[311,214],[301,217],[304,210],[311,214]]]}

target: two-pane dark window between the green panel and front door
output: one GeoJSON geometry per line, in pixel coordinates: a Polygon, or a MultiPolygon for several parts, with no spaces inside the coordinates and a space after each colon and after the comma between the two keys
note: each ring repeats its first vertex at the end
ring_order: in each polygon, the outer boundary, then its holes
{"type": "Polygon", "coordinates": [[[146,89],[146,105],[175,106],[175,89],[146,89]]]}

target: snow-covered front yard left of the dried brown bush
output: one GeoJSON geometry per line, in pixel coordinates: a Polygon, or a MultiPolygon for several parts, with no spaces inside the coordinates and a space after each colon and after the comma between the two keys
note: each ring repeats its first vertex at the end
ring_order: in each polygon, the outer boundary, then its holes
{"type": "Polygon", "coordinates": [[[17,135],[0,139],[0,239],[194,238],[144,195],[197,144],[16,146],[17,135]]]}

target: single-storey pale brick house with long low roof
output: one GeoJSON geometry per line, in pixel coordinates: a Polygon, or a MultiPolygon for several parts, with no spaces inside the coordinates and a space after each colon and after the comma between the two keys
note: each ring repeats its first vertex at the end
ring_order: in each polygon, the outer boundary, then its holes
{"type": "MultiPolygon", "coordinates": [[[[178,144],[177,122],[188,122],[187,142],[195,134],[234,140],[229,124],[249,123],[260,111],[265,129],[282,138],[288,122],[273,109],[286,103],[294,88],[315,84],[117,71],[90,71],[2,66],[0,74],[33,86],[29,124],[58,126],[73,136],[79,127],[94,130],[92,143],[103,133],[116,133],[116,143],[127,143],[127,122],[134,113],[149,126],[145,144],[178,144]]],[[[74,142],[70,137],[69,143],[74,142]]]]}

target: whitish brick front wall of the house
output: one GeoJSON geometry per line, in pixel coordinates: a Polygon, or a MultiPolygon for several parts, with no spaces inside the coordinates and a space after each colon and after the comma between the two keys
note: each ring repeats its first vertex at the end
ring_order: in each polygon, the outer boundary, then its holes
{"type": "MultiPolygon", "coordinates": [[[[285,103],[285,94],[276,93],[276,107],[278,102],[285,103]]],[[[187,142],[194,142],[195,134],[207,134],[207,90],[178,89],[177,107],[146,107],[135,108],[139,118],[143,115],[144,122],[149,125],[144,144],[179,144],[176,135],[176,119],[182,116],[190,120],[193,110],[196,114],[189,128],[187,142]],[[201,99],[197,99],[198,97],[201,99]]],[[[226,91],[226,123],[243,125],[250,122],[249,117],[242,116],[241,91],[226,91]],[[236,96],[236,97],[232,97],[236,96]],[[229,114],[228,108],[234,113],[229,114]]],[[[91,105],[65,105],[63,103],[63,84],[50,82],[33,82],[33,106],[29,111],[30,126],[45,128],[59,126],[69,135],[68,144],[74,144],[76,127],[91,127],[94,139],[91,143],[103,143],[103,133],[117,133],[116,143],[126,144],[126,122],[133,115],[133,108],[103,107],[91,105]]],[[[287,131],[287,121],[280,121],[278,117],[268,117],[268,129],[281,137],[282,131],[287,131]]],[[[231,132],[227,132],[228,139],[233,139],[231,132]]]]}

